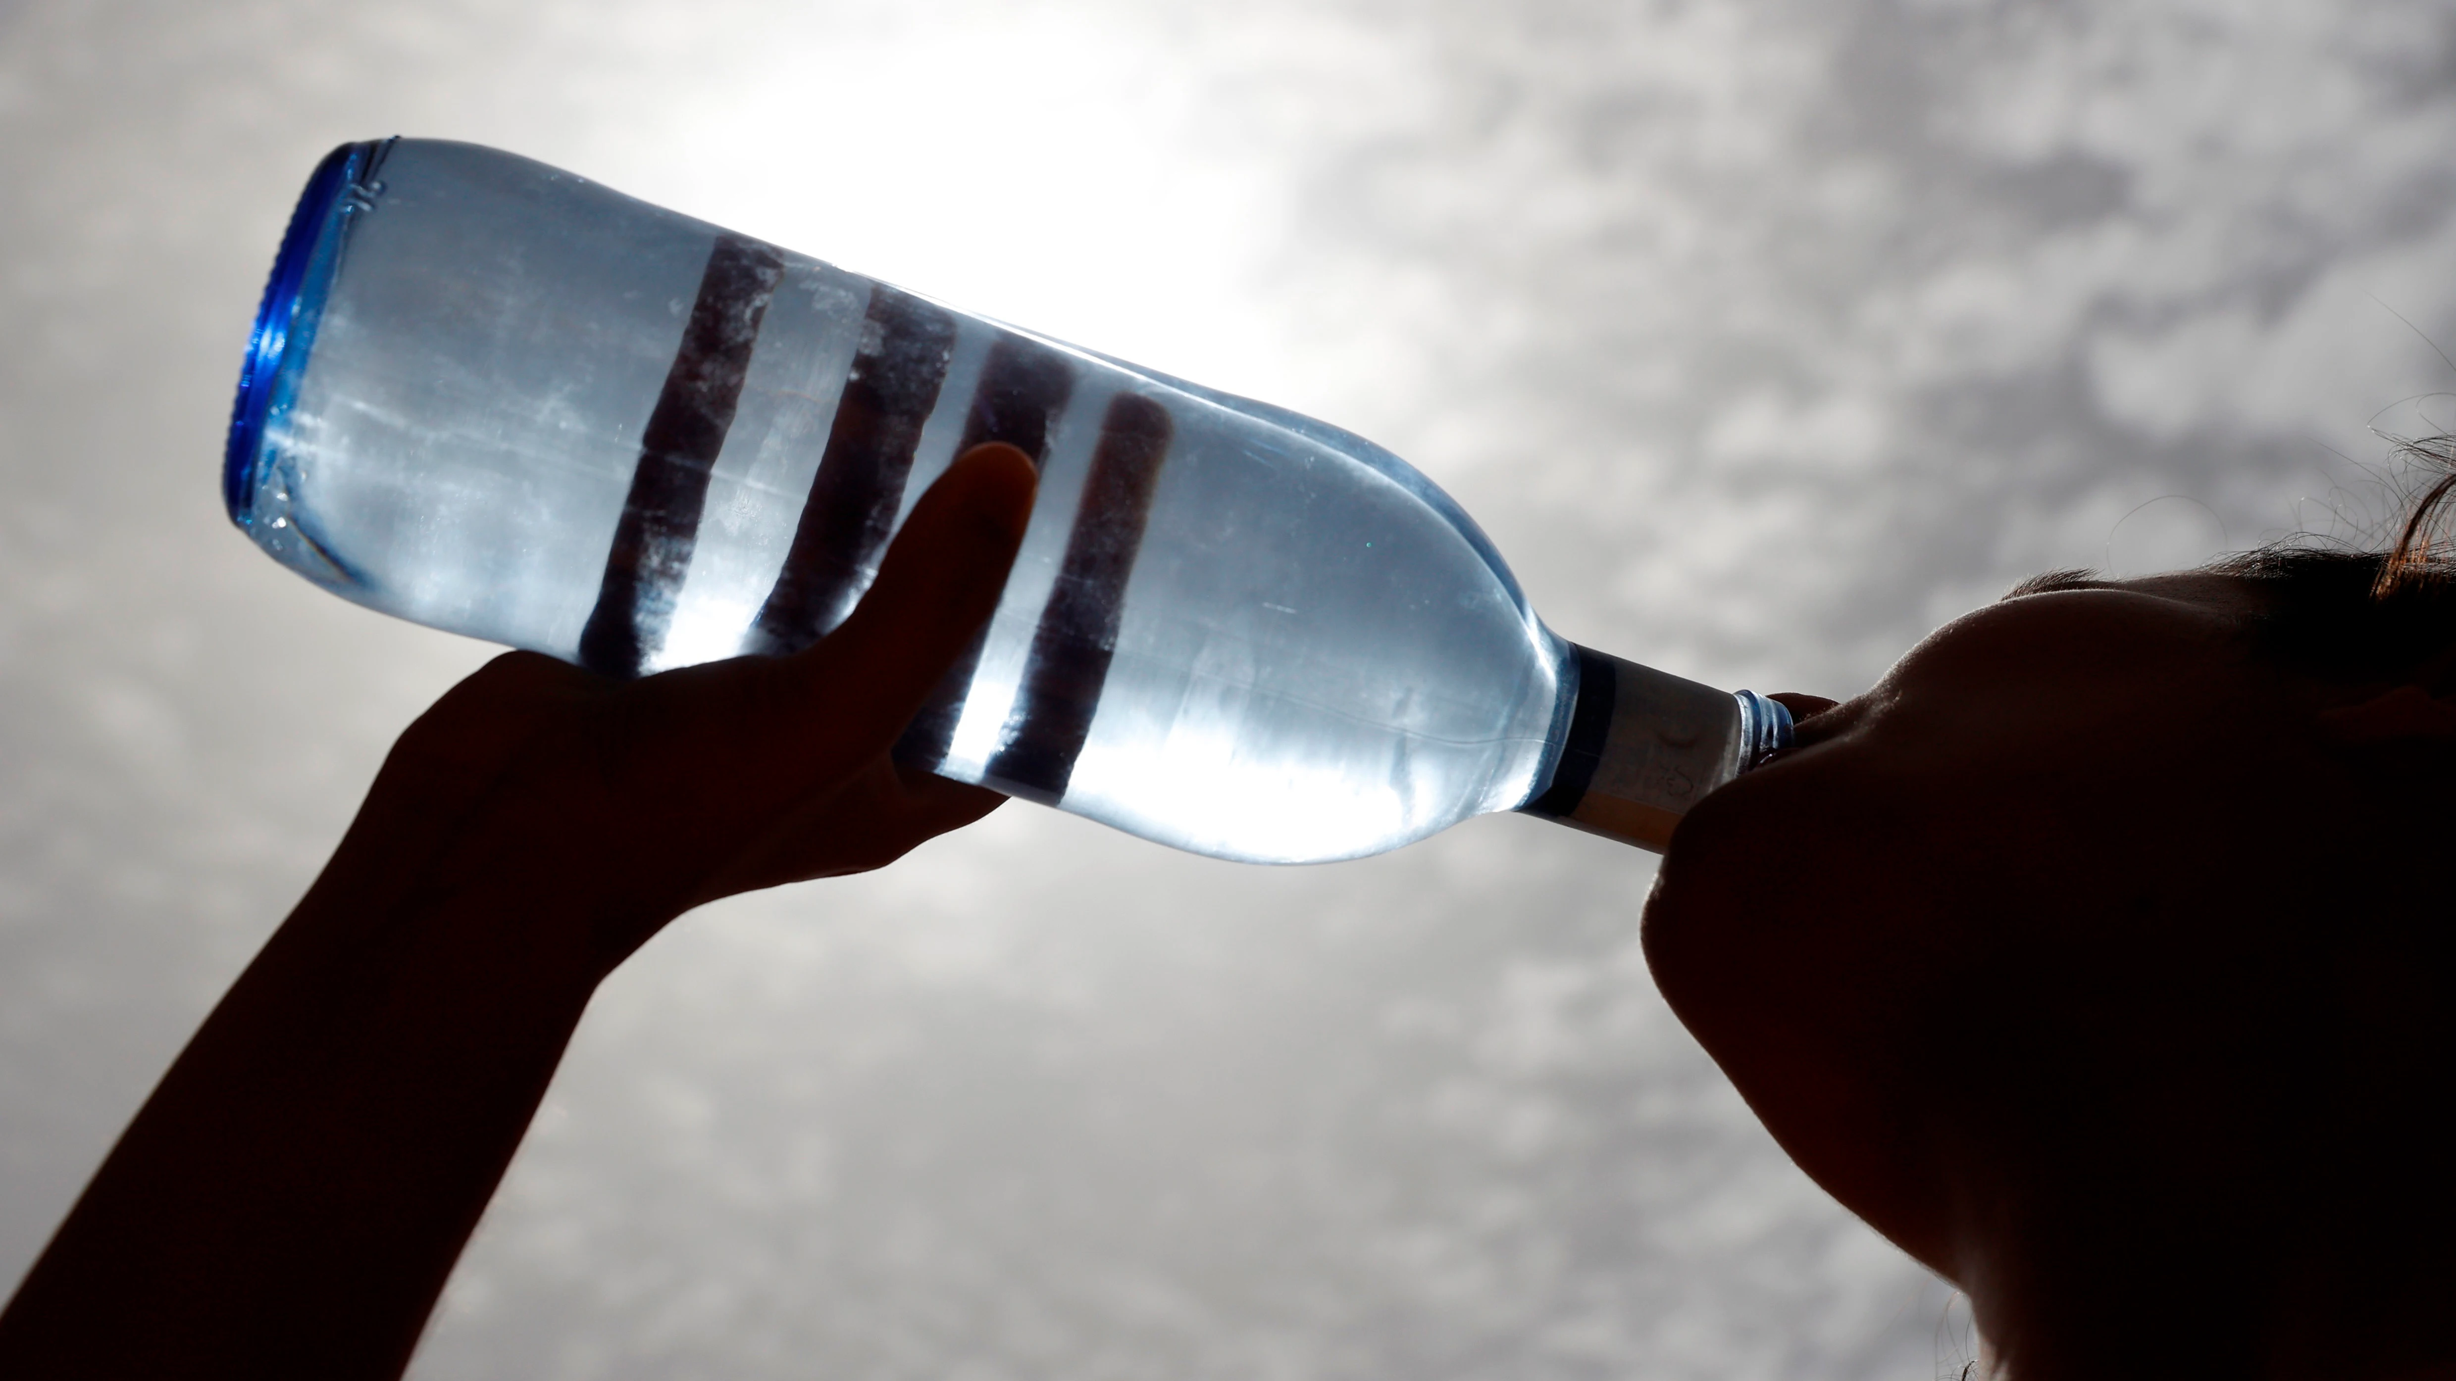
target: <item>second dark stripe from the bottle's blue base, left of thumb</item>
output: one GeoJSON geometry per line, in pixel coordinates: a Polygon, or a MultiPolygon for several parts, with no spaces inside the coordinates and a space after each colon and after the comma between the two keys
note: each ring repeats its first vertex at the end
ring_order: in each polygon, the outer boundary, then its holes
{"type": "Polygon", "coordinates": [[[950,312],[884,283],[872,290],[810,499],[744,651],[801,651],[852,612],[904,506],[953,351],[950,312]]]}

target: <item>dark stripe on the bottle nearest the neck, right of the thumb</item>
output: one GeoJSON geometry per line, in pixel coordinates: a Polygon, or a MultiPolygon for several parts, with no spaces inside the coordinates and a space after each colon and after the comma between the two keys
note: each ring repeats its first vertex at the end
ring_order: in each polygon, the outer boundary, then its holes
{"type": "Polygon", "coordinates": [[[1000,791],[1046,806],[1066,796],[1117,651],[1125,580],[1135,573],[1174,435],[1169,410],[1140,393],[1120,393],[1100,420],[1066,563],[1024,656],[1007,742],[990,759],[987,777],[1000,791]]]}

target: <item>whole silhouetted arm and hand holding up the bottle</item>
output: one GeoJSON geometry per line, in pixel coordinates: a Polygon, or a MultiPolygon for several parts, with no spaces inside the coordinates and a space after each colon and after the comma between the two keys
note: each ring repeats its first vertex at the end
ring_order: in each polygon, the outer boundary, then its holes
{"type": "Polygon", "coordinates": [[[0,1315],[0,1376],[398,1376],[624,956],[1000,804],[887,749],[1029,496],[1019,452],[970,452],[798,656],[614,683],[508,654],[447,693],[0,1315]]]}

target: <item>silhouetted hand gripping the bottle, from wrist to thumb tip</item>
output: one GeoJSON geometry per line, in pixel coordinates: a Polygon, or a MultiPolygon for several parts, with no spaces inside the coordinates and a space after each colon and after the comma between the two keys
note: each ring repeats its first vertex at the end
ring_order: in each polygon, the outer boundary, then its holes
{"type": "Polygon", "coordinates": [[[977,821],[1005,796],[889,747],[997,607],[1034,482],[1014,447],[963,455],[852,617],[793,656],[641,681],[494,659],[400,735],[317,892],[508,887],[609,971],[690,907],[882,867],[977,821]]]}

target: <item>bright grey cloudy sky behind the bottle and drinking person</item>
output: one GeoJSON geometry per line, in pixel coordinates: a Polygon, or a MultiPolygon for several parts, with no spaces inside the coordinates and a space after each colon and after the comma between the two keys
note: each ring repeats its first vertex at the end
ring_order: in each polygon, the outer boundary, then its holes
{"type": "MultiPolygon", "coordinates": [[[[0,0],[0,1280],[489,651],[219,511],[329,145],[503,145],[1316,413],[1567,636],[1847,693],[2036,568],[2375,516],[2365,428],[2451,383],[2451,17],[0,0]]],[[[1014,806],[712,907],[589,1012],[418,1376],[1950,1374],[1945,1290],[1653,995],[1650,870],[1014,806]]]]}

